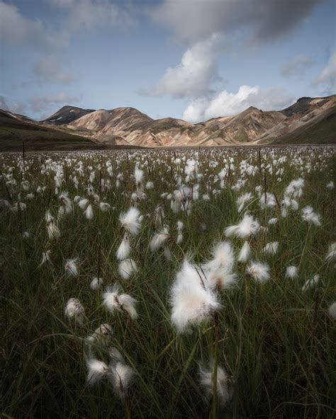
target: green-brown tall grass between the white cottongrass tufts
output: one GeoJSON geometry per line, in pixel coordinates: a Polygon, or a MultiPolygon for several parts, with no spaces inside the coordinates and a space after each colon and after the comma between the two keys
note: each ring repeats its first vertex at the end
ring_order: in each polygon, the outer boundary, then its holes
{"type": "MultiPolygon", "coordinates": [[[[148,151],[127,153],[74,153],[52,155],[26,154],[23,171],[20,155],[2,157],[1,194],[11,202],[26,202],[27,209],[12,212],[1,208],[1,408],[4,418],[123,418],[125,403],[108,382],[86,384],[84,338],[101,323],[113,328],[112,345],[135,369],[136,377],[128,394],[132,418],[207,418],[213,414],[213,403],[204,398],[198,383],[198,367],[218,356],[232,379],[233,398],[228,406],[217,406],[218,418],[334,418],[335,320],[327,314],[336,299],[335,266],[327,263],[327,246],[335,241],[335,190],[325,185],[332,180],[335,150],[263,149],[260,161],[254,149],[211,149],[182,151],[148,151]],[[170,202],[160,195],[176,188],[174,176],[184,178],[184,161],[176,157],[198,159],[201,193],[209,183],[211,199],[197,200],[187,215],[174,214],[170,202]],[[281,156],[286,161],[279,163],[281,156]],[[233,157],[235,170],[221,189],[215,176],[233,157]],[[41,165],[52,159],[65,168],[61,190],[69,197],[86,196],[91,171],[96,171],[93,186],[101,200],[114,209],[100,212],[94,207],[94,219],[87,220],[82,210],[60,222],[62,236],[47,238],[44,215],[47,209],[57,214],[60,201],[55,195],[54,171],[41,173],[41,165]],[[302,159],[302,164],[294,159],[302,159]],[[248,161],[260,168],[254,176],[243,175],[240,162],[248,161]],[[71,176],[79,161],[84,174],[79,189],[71,176]],[[111,161],[113,177],[106,171],[111,161]],[[213,167],[211,161],[218,162],[213,167]],[[152,180],[153,190],[138,202],[141,214],[150,214],[142,222],[140,234],[131,239],[132,258],[138,273],[129,280],[118,275],[116,250],[122,239],[119,214],[132,202],[135,185],[133,171],[139,162],[145,180],[152,180]],[[264,166],[274,166],[273,173],[264,166]],[[88,168],[92,167],[92,170],[88,168]],[[13,167],[12,172],[10,168],[13,167]],[[281,180],[276,170],[284,168],[281,180]],[[120,188],[116,175],[124,174],[120,188]],[[17,185],[7,176],[13,173],[17,185]],[[266,177],[264,176],[266,173],[266,177]],[[267,186],[279,200],[291,180],[303,176],[306,185],[299,200],[300,209],[281,217],[281,208],[261,209],[254,193],[257,185],[267,186]],[[238,178],[247,178],[240,191],[232,190],[238,178]],[[111,179],[111,188],[103,190],[101,180],[111,179]],[[266,182],[265,182],[266,179],[266,182]],[[5,180],[7,186],[5,188],[5,180]],[[23,190],[22,180],[28,180],[23,190]],[[38,185],[46,186],[43,194],[35,193],[38,185]],[[212,195],[211,190],[220,192],[212,195]],[[26,200],[28,193],[32,200],[26,200]],[[189,252],[196,263],[211,256],[213,243],[224,240],[226,226],[237,224],[235,200],[245,192],[254,193],[248,210],[267,226],[271,217],[279,222],[257,235],[251,242],[253,258],[267,261],[271,280],[254,282],[245,265],[235,264],[237,286],[222,292],[223,309],[218,313],[218,355],[215,355],[215,322],[208,321],[191,333],[177,334],[170,321],[169,288],[174,275],[189,252]],[[127,193],[127,194],[124,194],[127,193]],[[172,260],[161,251],[152,254],[149,243],[155,231],[152,215],[157,205],[164,207],[166,222],[173,239],[169,243],[172,260]],[[301,208],[312,205],[321,215],[322,226],[308,226],[301,219],[301,208]],[[184,240],[175,243],[176,223],[185,224],[184,240]],[[23,233],[30,236],[25,239],[23,233]],[[265,256],[267,242],[279,241],[275,256],[265,256]],[[40,265],[42,253],[52,253],[52,267],[40,265]],[[78,258],[79,276],[65,273],[65,259],[78,258]],[[288,265],[299,267],[294,280],[285,278],[288,265]],[[138,320],[123,313],[113,316],[101,307],[101,289],[93,292],[92,277],[103,277],[104,285],[118,282],[123,292],[138,299],[138,320]],[[318,273],[320,283],[308,292],[301,288],[318,273]],[[64,315],[65,304],[78,298],[86,313],[84,327],[76,326],[64,315]]],[[[264,189],[263,189],[264,190],[264,189]]],[[[238,251],[242,241],[232,240],[238,251]]],[[[102,350],[101,359],[106,358],[102,350]]]]}

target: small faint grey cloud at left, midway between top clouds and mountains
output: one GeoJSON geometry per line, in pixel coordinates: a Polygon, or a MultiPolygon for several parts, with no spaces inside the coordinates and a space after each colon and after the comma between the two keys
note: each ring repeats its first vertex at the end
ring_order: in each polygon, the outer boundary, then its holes
{"type": "Polygon", "coordinates": [[[33,68],[33,73],[41,83],[70,84],[74,76],[62,69],[60,59],[55,55],[47,55],[40,59],[33,68]]]}

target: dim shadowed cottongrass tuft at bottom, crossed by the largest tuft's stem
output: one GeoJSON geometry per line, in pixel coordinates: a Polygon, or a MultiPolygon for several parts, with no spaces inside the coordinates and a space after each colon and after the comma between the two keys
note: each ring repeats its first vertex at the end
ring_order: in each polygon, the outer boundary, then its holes
{"type": "MultiPolygon", "coordinates": [[[[208,397],[213,396],[213,373],[214,373],[215,365],[214,362],[211,362],[211,367],[207,369],[203,369],[200,365],[200,384],[203,389],[206,391],[208,397]]],[[[222,406],[225,406],[230,401],[233,392],[229,387],[229,377],[228,374],[225,372],[225,369],[222,367],[217,367],[217,397],[220,401],[222,406]]]]}

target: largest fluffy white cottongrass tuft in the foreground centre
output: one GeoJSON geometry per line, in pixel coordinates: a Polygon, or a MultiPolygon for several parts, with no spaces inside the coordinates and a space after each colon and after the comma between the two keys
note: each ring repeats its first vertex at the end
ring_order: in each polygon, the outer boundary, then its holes
{"type": "Polygon", "coordinates": [[[207,287],[201,269],[187,260],[177,272],[170,296],[172,323],[179,333],[190,326],[200,325],[221,307],[216,295],[207,287]]]}

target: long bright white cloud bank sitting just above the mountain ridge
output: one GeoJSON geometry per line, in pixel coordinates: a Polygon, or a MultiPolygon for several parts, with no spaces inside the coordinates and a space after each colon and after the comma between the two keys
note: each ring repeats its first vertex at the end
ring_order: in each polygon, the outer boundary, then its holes
{"type": "Polygon", "coordinates": [[[237,115],[250,106],[262,110],[279,110],[293,103],[293,96],[280,88],[240,86],[237,93],[221,91],[211,98],[191,101],[184,110],[183,119],[200,122],[214,117],[237,115]]]}

